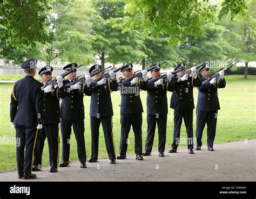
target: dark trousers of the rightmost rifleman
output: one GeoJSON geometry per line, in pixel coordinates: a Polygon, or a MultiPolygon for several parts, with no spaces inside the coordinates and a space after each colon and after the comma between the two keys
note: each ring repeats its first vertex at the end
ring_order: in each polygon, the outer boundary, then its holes
{"type": "Polygon", "coordinates": [[[205,124],[207,124],[207,147],[213,147],[213,141],[216,133],[217,125],[217,111],[198,111],[197,110],[197,128],[196,128],[196,138],[197,146],[202,146],[202,136],[205,124]]]}

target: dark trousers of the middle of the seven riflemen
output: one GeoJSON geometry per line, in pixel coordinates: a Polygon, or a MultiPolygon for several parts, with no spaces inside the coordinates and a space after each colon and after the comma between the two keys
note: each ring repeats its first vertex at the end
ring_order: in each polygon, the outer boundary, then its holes
{"type": "Polygon", "coordinates": [[[126,155],[127,141],[131,129],[134,132],[135,153],[142,154],[142,113],[137,114],[121,114],[121,138],[120,138],[120,155],[126,155]]]}

